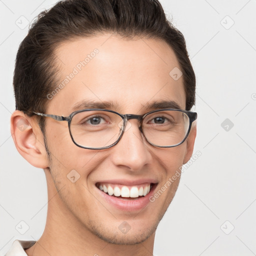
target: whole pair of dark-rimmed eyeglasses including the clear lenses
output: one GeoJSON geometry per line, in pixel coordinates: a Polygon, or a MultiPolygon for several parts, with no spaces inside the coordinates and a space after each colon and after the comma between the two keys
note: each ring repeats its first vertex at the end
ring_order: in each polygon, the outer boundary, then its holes
{"type": "Polygon", "coordinates": [[[148,113],[120,114],[113,110],[89,108],[72,112],[69,116],[43,114],[57,121],[67,121],[72,141],[87,149],[109,148],[121,139],[131,125],[128,120],[137,119],[139,130],[146,141],[157,147],[173,147],[187,138],[197,113],[182,109],[157,109],[148,113]]]}

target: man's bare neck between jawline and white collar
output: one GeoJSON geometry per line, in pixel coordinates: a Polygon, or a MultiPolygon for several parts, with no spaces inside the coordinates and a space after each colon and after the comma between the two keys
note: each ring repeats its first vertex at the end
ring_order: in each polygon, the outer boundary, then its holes
{"type": "Polygon", "coordinates": [[[45,171],[48,209],[41,237],[25,252],[28,256],[152,256],[155,232],[137,244],[112,244],[102,240],[81,223],[64,205],[48,171],[45,171]],[[49,176],[48,176],[49,175],[49,176]]]}

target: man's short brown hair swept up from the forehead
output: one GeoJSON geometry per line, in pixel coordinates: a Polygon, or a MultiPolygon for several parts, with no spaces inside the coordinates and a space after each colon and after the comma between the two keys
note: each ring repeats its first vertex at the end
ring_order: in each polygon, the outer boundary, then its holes
{"type": "Polygon", "coordinates": [[[185,108],[190,110],[195,103],[195,75],[185,39],[167,20],[158,0],[62,0],[42,11],[18,48],[13,76],[16,109],[28,115],[44,113],[46,95],[58,82],[56,47],[104,32],[158,38],[170,45],[183,73],[185,108]]]}

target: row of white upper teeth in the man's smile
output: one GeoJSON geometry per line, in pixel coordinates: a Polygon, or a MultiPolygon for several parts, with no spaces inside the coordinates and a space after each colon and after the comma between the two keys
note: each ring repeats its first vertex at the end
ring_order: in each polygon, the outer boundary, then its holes
{"type": "Polygon", "coordinates": [[[131,187],[116,185],[116,184],[99,184],[99,189],[108,193],[109,195],[122,196],[122,197],[138,197],[147,195],[150,191],[150,183],[143,185],[134,185],[131,187]]]}

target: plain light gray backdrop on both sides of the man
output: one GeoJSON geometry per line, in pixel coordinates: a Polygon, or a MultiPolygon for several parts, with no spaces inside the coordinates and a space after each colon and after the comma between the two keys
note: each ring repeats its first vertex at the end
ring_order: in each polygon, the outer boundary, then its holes
{"type": "MultiPolygon", "coordinates": [[[[45,225],[43,170],[18,154],[9,118],[15,54],[28,28],[22,26],[54,2],[0,0],[1,255],[14,239],[38,239],[45,225]],[[23,235],[15,228],[25,228],[20,221],[29,226],[23,235]]],[[[194,152],[201,156],[182,173],[158,226],[154,254],[255,255],[256,0],[160,2],[184,34],[196,73],[194,152]]]]}

